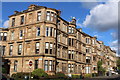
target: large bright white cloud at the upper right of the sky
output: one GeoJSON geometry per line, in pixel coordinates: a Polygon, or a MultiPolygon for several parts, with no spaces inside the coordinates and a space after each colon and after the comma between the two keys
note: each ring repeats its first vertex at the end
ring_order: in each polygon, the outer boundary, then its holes
{"type": "Polygon", "coordinates": [[[106,4],[97,5],[90,10],[83,25],[99,31],[116,29],[118,27],[118,3],[108,1],[106,4]]]}

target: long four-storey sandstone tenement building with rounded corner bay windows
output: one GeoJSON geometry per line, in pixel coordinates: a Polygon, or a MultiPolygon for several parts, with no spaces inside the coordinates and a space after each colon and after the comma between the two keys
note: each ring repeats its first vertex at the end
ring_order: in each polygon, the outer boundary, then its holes
{"type": "Polygon", "coordinates": [[[102,41],[76,28],[76,19],[68,22],[61,11],[30,5],[9,16],[9,27],[0,30],[2,58],[9,61],[9,73],[42,68],[48,74],[98,73],[97,62],[107,71],[116,67],[116,52],[102,41]]]}

